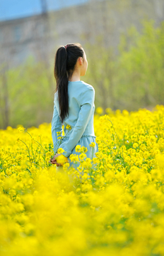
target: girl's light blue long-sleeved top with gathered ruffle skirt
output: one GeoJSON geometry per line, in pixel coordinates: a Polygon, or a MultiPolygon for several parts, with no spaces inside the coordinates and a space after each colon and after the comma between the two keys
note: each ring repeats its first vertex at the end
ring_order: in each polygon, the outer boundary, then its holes
{"type": "MultiPolygon", "coordinates": [[[[81,145],[88,149],[87,156],[92,158],[98,151],[98,144],[95,142],[95,132],[93,127],[93,117],[95,111],[95,90],[92,85],[83,81],[69,82],[69,116],[64,119],[64,134],[68,132],[66,125],[71,126],[71,130],[64,137],[59,148],[64,149],[64,156],[78,154],[75,146],[81,145]],[[89,144],[95,142],[92,149],[89,144]],[[93,152],[91,152],[93,150],[93,152]]],[[[62,134],[62,125],[59,119],[59,102],[57,92],[54,94],[54,112],[52,117],[52,139],[54,152],[57,150],[57,132],[62,134]]]]}

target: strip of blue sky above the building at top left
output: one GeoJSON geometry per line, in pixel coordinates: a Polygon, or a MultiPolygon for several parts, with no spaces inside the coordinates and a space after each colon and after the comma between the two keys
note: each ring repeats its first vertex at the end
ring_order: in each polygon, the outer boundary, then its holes
{"type": "MultiPolygon", "coordinates": [[[[47,0],[47,10],[59,10],[67,6],[84,4],[88,0],[47,0]]],[[[0,0],[0,21],[22,18],[42,12],[41,0],[0,0]]]]}

